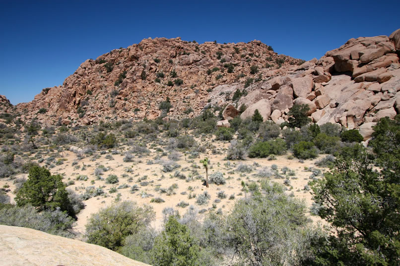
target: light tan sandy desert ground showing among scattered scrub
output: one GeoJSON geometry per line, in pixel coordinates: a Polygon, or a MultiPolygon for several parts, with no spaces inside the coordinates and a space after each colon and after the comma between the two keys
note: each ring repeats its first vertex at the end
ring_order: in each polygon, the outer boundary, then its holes
{"type": "MultiPolygon", "coordinates": [[[[312,172],[309,168],[318,168],[314,163],[325,157],[325,155],[320,155],[319,158],[315,160],[304,160],[304,162],[299,162],[296,158],[289,160],[289,153],[283,156],[277,156],[276,160],[247,158],[247,160],[229,161],[225,159],[226,149],[229,146],[229,142],[216,140],[209,140],[208,142],[215,146],[214,151],[217,151],[219,154],[212,154],[211,151],[206,151],[205,153],[200,153],[200,159],[207,157],[210,160],[208,166],[209,174],[215,172],[223,173],[226,184],[210,184],[209,188],[206,188],[203,184],[203,180],[199,177],[188,181],[190,176],[196,177],[200,175],[201,178],[204,178],[205,169],[200,163],[199,158],[189,159],[189,156],[186,156],[185,158],[184,154],[179,151],[176,151],[182,155],[180,159],[176,161],[179,167],[174,169],[172,172],[163,172],[163,166],[160,161],[168,160],[168,158],[167,156],[161,156],[155,160],[154,158],[161,154],[160,152],[155,151],[157,147],[154,145],[151,147],[149,143],[147,143],[147,148],[150,150],[150,153],[143,157],[138,157],[136,155],[131,162],[125,162],[123,160],[125,152],[130,149],[127,145],[121,145],[118,148],[112,149],[114,151],[119,151],[119,154],[113,155],[111,150],[106,151],[105,154],[95,152],[93,155],[86,155],[80,160],[74,152],[68,151],[69,147],[64,147],[65,151],[59,153],[60,157],[56,158],[56,160],[61,159],[63,163],[56,165],[54,168],[50,169],[50,171],[52,174],[63,175],[63,180],[66,183],[73,183],[71,181],[73,180],[74,184],[68,185],[67,189],[72,189],[77,194],[84,194],[85,189],[89,186],[95,186],[96,188],[101,187],[105,192],[103,195],[84,201],[86,207],[78,213],[78,219],[75,226],[75,228],[81,233],[85,231],[85,224],[92,213],[96,213],[101,208],[112,205],[117,201],[131,200],[135,201],[139,206],[145,204],[152,206],[156,213],[156,218],[151,225],[158,229],[161,228],[163,224],[162,211],[164,208],[172,207],[179,211],[181,215],[186,212],[188,206],[177,206],[181,201],[188,203],[189,206],[195,206],[197,210],[202,210],[203,213],[215,209],[218,213],[226,214],[232,209],[235,201],[246,197],[246,195],[249,194],[249,192],[243,190],[242,181],[246,183],[252,181],[260,182],[263,178],[257,175],[258,171],[264,167],[271,170],[273,164],[277,166],[277,171],[281,176],[278,178],[272,176],[268,179],[281,184],[284,184],[285,180],[289,179],[290,183],[288,184],[286,181],[285,184],[285,187],[287,188],[286,193],[292,194],[300,200],[304,200],[308,207],[312,206],[313,200],[311,191],[305,189],[308,182],[312,180],[312,177],[310,177],[312,172]],[[150,162],[152,164],[150,164],[150,162]],[[240,164],[249,166],[251,171],[240,172],[237,169],[240,164]],[[102,167],[101,165],[107,167],[109,170],[104,171],[101,176],[96,176],[95,169],[99,166],[102,167]],[[282,173],[281,170],[284,166],[292,170],[291,175],[288,175],[287,173],[285,175],[282,173]],[[175,177],[174,173],[176,170],[189,178],[180,179],[175,177]],[[115,184],[107,184],[105,179],[110,174],[117,175],[119,182],[115,184]],[[77,180],[79,175],[86,175],[87,180],[77,180]],[[118,189],[124,184],[127,185],[126,188],[118,189]],[[138,190],[132,193],[131,187],[134,184],[137,184],[138,190]],[[175,187],[175,189],[170,189],[169,192],[165,193],[165,191],[167,191],[171,186],[175,187]],[[112,188],[116,188],[114,189],[115,192],[110,192],[110,189],[112,188]],[[196,203],[197,197],[195,197],[195,195],[202,194],[204,191],[207,191],[211,198],[208,200],[207,204],[199,205],[196,203]],[[218,199],[217,193],[220,191],[224,191],[226,198],[218,199]],[[190,198],[189,195],[192,195],[192,198],[190,198]],[[232,197],[230,197],[231,195],[232,197]],[[165,202],[151,202],[151,200],[155,198],[161,198],[165,202]]],[[[45,160],[40,163],[40,165],[45,165],[46,156],[43,156],[42,158],[45,160]]],[[[273,167],[275,168],[276,166],[273,167]]],[[[322,174],[327,170],[324,168],[320,169],[322,170],[322,174]]],[[[16,177],[26,178],[27,174],[20,174],[16,177]]],[[[320,177],[321,175],[317,178],[320,177]]],[[[13,203],[15,195],[12,191],[15,189],[15,184],[12,180],[0,179],[0,186],[3,187],[4,185],[9,186],[8,195],[11,198],[11,203],[13,203]]],[[[314,222],[321,221],[317,216],[311,214],[309,216],[314,222]]]]}

